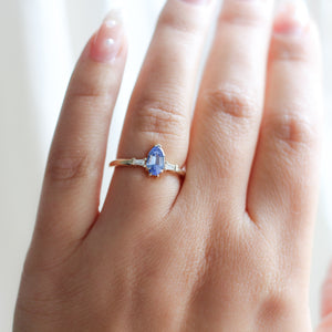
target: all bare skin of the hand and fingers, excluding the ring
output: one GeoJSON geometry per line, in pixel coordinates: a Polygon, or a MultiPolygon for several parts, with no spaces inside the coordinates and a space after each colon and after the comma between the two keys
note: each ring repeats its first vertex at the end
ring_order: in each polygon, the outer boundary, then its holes
{"type": "MultiPolygon", "coordinates": [[[[167,1],[118,157],[162,144],[187,174],[117,167],[98,210],[127,51],[106,18],[63,103],[14,331],[312,331],[320,45],[309,18],[272,7],[225,1],[195,100],[217,3],[167,1]]],[[[332,329],[324,295],[319,332],[332,329]]]]}

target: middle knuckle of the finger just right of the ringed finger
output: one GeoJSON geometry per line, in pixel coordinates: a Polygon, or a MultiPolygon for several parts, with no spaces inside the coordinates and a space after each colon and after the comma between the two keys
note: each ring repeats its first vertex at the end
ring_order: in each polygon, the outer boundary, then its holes
{"type": "Polygon", "coordinates": [[[215,112],[234,118],[250,120],[259,112],[256,98],[239,89],[217,89],[206,92],[207,105],[215,112]]]}

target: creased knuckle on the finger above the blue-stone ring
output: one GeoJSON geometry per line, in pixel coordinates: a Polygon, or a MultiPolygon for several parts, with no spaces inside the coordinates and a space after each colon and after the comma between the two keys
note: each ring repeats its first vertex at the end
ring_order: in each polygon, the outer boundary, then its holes
{"type": "Polygon", "coordinates": [[[183,138],[187,118],[180,105],[164,102],[144,102],[136,111],[136,127],[139,133],[183,138]]]}

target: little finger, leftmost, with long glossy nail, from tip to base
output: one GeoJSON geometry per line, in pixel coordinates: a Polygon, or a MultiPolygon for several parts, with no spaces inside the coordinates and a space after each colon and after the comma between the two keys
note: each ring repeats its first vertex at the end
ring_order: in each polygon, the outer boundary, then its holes
{"type": "Polygon", "coordinates": [[[108,126],[125,64],[117,11],[89,41],[72,75],[45,170],[37,232],[81,239],[98,214],[108,126]]]}

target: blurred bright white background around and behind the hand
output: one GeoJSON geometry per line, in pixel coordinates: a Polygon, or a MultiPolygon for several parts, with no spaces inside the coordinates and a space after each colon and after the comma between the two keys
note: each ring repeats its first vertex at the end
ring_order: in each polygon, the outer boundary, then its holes
{"type": "MultiPolygon", "coordinates": [[[[321,30],[324,56],[325,142],[310,289],[315,326],[321,284],[332,257],[332,1],[307,2],[321,30]]],[[[111,127],[106,157],[111,160],[116,155],[127,102],[164,3],[165,0],[1,0],[0,331],[11,330],[48,149],[75,61],[105,13],[122,7],[129,54],[111,127]]],[[[105,169],[102,197],[112,176],[105,169]]]]}

